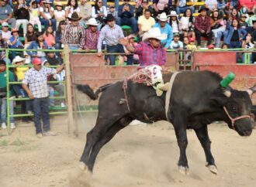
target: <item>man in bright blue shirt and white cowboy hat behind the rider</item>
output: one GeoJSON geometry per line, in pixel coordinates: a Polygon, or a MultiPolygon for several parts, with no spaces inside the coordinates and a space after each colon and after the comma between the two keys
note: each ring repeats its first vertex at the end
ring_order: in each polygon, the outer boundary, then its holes
{"type": "Polygon", "coordinates": [[[159,28],[162,34],[166,34],[167,38],[161,40],[161,45],[164,46],[164,50],[167,51],[173,39],[173,32],[171,26],[168,24],[168,16],[165,12],[157,16],[159,20],[153,27],[159,28]]]}

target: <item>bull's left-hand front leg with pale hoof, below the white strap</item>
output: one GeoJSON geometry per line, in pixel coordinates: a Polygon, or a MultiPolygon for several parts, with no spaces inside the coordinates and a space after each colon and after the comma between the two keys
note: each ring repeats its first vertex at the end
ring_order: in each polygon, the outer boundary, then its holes
{"type": "Polygon", "coordinates": [[[175,134],[178,141],[178,148],[180,150],[180,156],[178,159],[178,170],[182,174],[189,175],[189,165],[187,156],[185,155],[185,149],[188,145],[188,138],[185,127],[183,128],[181,126],[175,126],[175,134]]]}

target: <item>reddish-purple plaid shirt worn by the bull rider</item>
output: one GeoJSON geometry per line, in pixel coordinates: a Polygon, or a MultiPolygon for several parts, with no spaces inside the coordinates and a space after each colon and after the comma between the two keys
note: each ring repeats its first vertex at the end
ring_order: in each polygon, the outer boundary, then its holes
{"type": "Polygon", "coordinates": [[[166,53],[163,47],[153,48],[149,42],[140,42],[135,46],[134,53],[139,55],[140,66],[152,64],[162,66],[166,62],[166,53]]]}

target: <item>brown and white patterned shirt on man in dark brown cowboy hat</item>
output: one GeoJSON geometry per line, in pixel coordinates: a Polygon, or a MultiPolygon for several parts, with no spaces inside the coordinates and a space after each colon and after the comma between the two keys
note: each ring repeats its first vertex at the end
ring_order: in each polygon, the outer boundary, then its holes
{"type": "Polygon", "coordinates": [[[65,26],[62,39],[63,44],[77,44],[82,49],[85,46],[85,29],[82,26],[67,25],[65,26]]]}

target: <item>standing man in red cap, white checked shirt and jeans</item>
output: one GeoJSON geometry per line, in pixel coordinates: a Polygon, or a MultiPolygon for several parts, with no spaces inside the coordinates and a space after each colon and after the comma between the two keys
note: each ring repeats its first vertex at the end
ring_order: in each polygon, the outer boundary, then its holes
{"type": "Polygon", "coordinates": [[[44,136],[56,135],[50,131],[49,117],[49,89],[47,85],[47,76],[50,74],[60,73],[64,65],[58,66],[56,69],[42,66],[40,58],[34,58],[33,68],[26,71],[22,80],[22,88],[26,90],[30,99],[33,100],[34,123],[36,127],[37,138],[44,136]],[[29,85],[29,86],[28,86],[29,85]],[[43,118],[43,131],[40,118],[43,118]]]}

